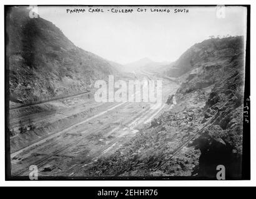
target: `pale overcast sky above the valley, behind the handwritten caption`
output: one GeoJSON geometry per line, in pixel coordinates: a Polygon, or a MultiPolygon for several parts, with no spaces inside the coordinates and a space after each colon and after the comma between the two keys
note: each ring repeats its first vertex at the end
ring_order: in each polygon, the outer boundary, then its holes
{"type": "MultiPolygon", "coordinates": [[[[103,8],[103,13],[66,12],[71,6],[39,7],[39,15],[51,21],[75,45],[118,63],[129,63],[140,58],[157,62],[173,62],[195,43],[209,38],[209,35],[245,35],[246,9],[226,7],[225,18],[216,16],[216,7],[182,7],[189,13],[137,12],[112,13],[113,7],[103,8]]],[[[97,8],[94,7],[94,8],[97,8]]],[[[116,8],[116,7],[114,7],[116,8]]],[[[179,7],[180,8],[180,7],[179,7]]]]}

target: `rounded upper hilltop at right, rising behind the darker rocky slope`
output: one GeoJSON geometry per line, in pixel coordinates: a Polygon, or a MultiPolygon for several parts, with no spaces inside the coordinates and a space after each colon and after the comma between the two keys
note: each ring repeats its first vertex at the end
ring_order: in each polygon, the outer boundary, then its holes
{"type": "Polygon", "coordinates": [[[204,40],[186,50],[176,62],[169,65],[165,73],[178,77],[205,63],[219,63],[225,57],[238,56],[242,53],[243,45],[241,37],[204,40]]]}

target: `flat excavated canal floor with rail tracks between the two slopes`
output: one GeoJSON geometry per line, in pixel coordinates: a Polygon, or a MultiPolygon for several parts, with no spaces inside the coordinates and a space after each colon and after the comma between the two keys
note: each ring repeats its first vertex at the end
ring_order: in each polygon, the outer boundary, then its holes
{"type": "MultiPolygon", "coordinates": [[[[156,79],[148,74],[139,78],[156,79]]],[[[159,77],[157,77],[159,80],[159,77]]],[[[163,102],[178,84],[162,79],[163,102]]],[[[28,176],[36,165],[39,176],[86,176],[94,162],[129,144],[170,105],[96,103],[87,93],[10,110],[10,129],[31,125],[32,131],[11,136],[11,175],[28,176]]]]}

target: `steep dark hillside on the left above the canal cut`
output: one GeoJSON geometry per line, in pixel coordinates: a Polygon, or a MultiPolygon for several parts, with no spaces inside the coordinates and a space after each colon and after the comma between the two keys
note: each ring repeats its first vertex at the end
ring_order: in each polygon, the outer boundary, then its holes
{"type": "Polygon", "coordinates": [[[52,22],[30,18],[26,6],[7,12],[11,100],[29,103],[86,91],[117,67],[76,47],[52,22]]]}

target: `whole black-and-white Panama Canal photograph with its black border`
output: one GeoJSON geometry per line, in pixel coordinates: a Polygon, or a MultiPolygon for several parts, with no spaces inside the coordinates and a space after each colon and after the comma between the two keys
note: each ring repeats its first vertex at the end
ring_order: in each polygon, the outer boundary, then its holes
{"type": "Polygon", "coordinates": [[[4,26],[6,180],[250,179],[250,5],[5,5],[4,26]]]}

